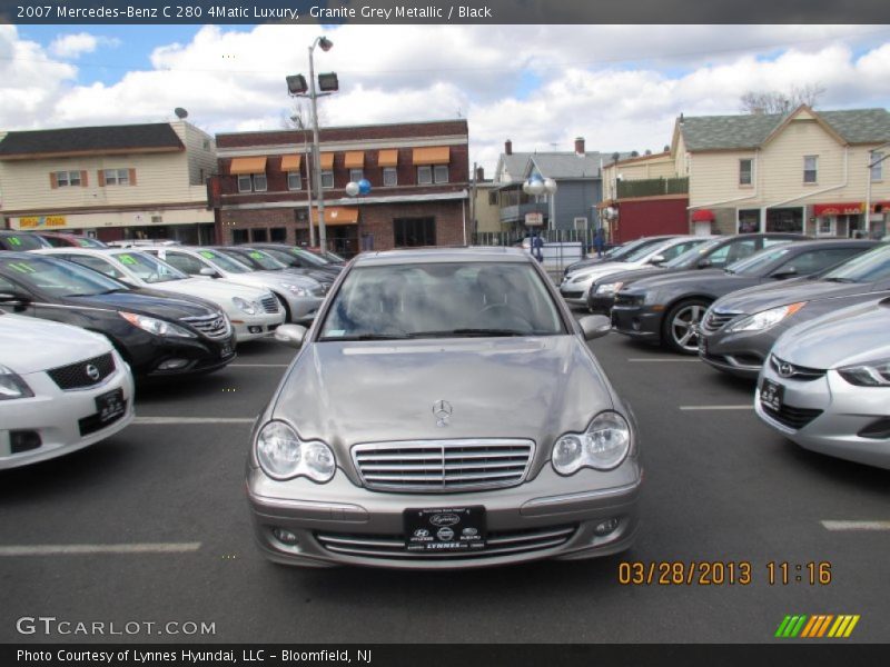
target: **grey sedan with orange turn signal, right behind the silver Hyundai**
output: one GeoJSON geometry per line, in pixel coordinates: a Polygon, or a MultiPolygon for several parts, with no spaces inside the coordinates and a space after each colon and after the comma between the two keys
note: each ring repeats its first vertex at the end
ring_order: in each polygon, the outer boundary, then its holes
{"type": "Polygon", "coordinates": [[[743,289],[714,301],[702,320],[699,357],[718,370],[754,379],[790,327],[890,293],[890,246],[883,243],[812,280],[743,289]]]}

